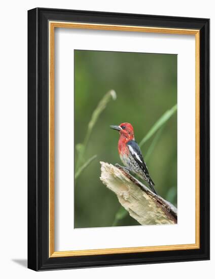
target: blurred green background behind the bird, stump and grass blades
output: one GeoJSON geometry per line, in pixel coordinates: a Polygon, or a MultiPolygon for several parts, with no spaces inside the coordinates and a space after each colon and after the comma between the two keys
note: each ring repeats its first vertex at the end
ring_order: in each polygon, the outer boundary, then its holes
{"type": "MultiPolygon", "coordinates": [[[[110,89],[116,91],[117,99],[99,116],[81,164],[97,157],[75,180],[75,228],[139,225],[101,183],[99,161],[122,164],[119,134],[110,125],[131,123],[139,143],[177,103],[177,55],[75,50],[75,146],[83,143],[92,113],[110,89]]],[[[161,129],[146,163],[156,191],[176,206],[177,114],[161,129]]],[[[157,133],[142,146],[144,157],[157,133]]],[[[75,164],[77,157],[75,151],[75,164]]]]}

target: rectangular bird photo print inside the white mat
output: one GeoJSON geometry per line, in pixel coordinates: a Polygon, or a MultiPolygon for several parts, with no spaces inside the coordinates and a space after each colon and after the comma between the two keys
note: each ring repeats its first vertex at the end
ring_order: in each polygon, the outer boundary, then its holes
{"type": "Polygon", "coordinates": [[[74,227],[177,223],[177,55],[74,61],[74,227]]]}

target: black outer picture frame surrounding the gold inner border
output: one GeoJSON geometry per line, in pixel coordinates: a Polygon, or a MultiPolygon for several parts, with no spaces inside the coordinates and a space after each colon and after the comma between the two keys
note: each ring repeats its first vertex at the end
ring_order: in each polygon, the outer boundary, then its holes
{"type": "MultiPolygon", "coordinates": [[[[105,241],[105,239],[104,239],[105,241]]],[[[28,268],[53,270],[209,259],[209,19],[35,8],[28,11],[28,268]],[[48,22],[200,30],[200,249],[49,257],[48,22]]]]}

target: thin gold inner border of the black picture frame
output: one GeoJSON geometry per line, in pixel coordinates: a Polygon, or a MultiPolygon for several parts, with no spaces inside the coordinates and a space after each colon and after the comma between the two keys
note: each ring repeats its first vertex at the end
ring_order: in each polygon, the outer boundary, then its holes
{"type": "Polygon", "coordinates": [[[200,248],[200,30],[130,25],[112,25],[49,21],[49,257],[72,257],[108,255],[156,251],[190,250],[200,248]],[[195,36],[195,243],[167,246],[108,248],[93,250],[55,251],[54,250],[54,31],[55,28],[79,28],[183,34],[195,36]]]}

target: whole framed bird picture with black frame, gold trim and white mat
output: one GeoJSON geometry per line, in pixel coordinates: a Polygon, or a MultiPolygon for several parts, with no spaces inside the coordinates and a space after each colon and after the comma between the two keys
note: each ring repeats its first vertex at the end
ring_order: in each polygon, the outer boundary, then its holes
{"type": "Polygon", "coordinates": [[[28,268],[209,259],[209,19],[28,11],[28,268]]]}

